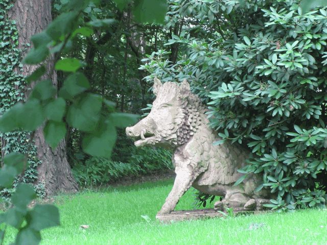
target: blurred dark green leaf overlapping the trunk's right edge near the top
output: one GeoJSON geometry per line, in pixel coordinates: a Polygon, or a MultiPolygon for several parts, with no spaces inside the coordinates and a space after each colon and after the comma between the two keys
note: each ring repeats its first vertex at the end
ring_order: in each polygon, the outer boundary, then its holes
{"type": "Polygon", "coordinates": [[[65,36],[69,32],[72,32],[74,25],[77,24],[75,21],[77,16],[78,12],[75,11],[60,14],[49,24],[48,28],[46,28],[46,34],[55,41],[59,40],[61,36],[65,36]]]}

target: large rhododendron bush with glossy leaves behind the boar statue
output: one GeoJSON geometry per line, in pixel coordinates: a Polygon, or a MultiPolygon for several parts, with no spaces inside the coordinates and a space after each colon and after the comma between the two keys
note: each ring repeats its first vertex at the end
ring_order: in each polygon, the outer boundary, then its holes
{"type": "Polygon", "coordinates": [[[325,205],[326,14],[293,0],[172,1],[167,24],[185,23],[166,45],[179,59],[159,50],[140,67],[149,82],[192,83],[216,143],[252,152],[240,171],[262,175],[274,209],[325,205]]]}

